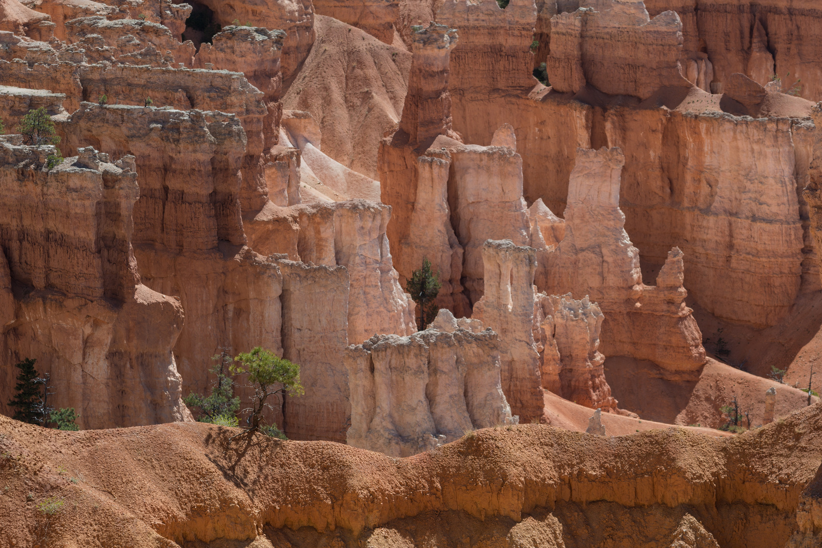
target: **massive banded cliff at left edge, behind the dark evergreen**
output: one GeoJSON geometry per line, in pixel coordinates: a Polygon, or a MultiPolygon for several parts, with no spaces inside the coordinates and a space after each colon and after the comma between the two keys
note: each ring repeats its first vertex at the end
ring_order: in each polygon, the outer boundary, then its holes
{"type": "Polygon", "coordinates": [[[141,284],[132,253],[134,157],[86,147],[48,171],[53,151],[0,140],[0,411],[31,357],[82,428],[191,420],[172,353],[182,306],[141,284]]]}

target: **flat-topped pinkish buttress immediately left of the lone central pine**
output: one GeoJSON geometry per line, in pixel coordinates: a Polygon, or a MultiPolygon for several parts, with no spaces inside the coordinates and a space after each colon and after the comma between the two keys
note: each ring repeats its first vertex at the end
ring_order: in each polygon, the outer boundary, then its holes
{"type": "Polygon", "coordinates": [[[266,207],[246,223],[255,251],[285,254],[314,265],[344,266],[349,273],[348,336],[412,334],[414,303],[398,283],[386,224],[390,208],[367,200],[266,207]]]}

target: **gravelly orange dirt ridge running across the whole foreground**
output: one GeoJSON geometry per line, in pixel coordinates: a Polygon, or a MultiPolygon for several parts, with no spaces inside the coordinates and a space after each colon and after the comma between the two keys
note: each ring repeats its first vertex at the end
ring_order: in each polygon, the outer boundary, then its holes
{"type": "Polygon", "coordinates": [[[521,425],[412,458],[263,437],[226,452],[230,431],[58,432],[0,417],[0,546],[44,546],[36,504],[55,496],[48,546],[249,546],[265,532],[275,546],[667,548],[696,527],[690,514],[719,546],[774,548],[822,458],[822,404],[734,438],[521,425]]]}

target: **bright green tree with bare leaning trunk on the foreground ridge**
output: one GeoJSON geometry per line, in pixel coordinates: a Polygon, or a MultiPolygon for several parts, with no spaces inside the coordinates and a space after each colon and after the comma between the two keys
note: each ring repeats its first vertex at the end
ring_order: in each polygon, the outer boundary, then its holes
{"type": "MultiPolygon", "coordinates": [[[[241,352],[229,369],[233,375],[247,375],[249,387],[254,389],[251,407],[242,410],[251,412],[250,424],[246,428],[249,434],[263,431],[267,435],[272,435],[272,429],[264,428],[261,424],[263,409],[272,408],[268,403],[270,396],[279,394],[281,398],[284,398],[285,394],[290,396],[305,394],[300,384],[300,366],[283,357],[278,357],[274,352],[265,348],[256,347],[251,352],[241,352]]],[[[279,432],[279,429],[277,431],[279,432]]]]}

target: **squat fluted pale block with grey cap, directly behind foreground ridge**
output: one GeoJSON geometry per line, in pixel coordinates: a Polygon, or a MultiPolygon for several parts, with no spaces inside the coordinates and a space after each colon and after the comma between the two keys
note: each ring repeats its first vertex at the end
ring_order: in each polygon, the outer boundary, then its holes
{"type": "Polygon", "coordinates": [[[474,428],[513,424],[490,329],[375,335],[345,351],[351,390],[347,442],[406,457],[474,428]]]}

